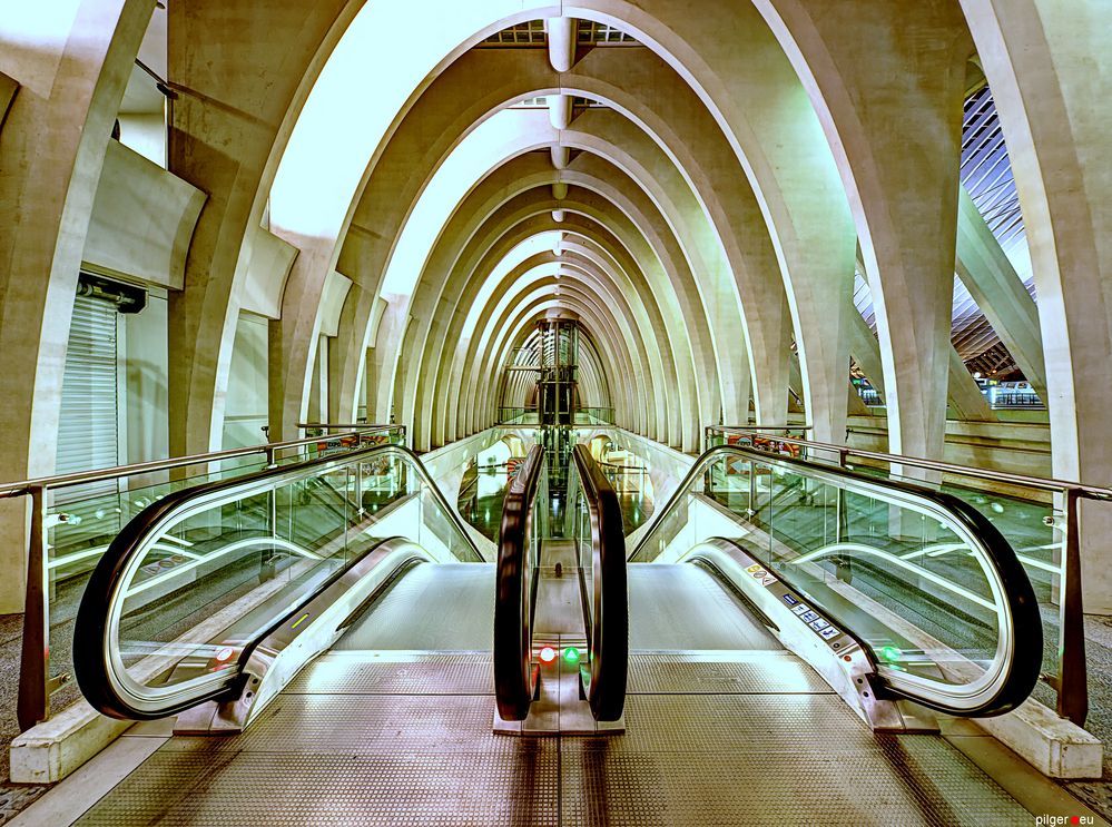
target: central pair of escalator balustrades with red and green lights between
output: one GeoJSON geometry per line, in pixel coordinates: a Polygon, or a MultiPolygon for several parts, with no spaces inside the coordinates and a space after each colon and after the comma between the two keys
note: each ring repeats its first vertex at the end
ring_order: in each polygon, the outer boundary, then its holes
{"type": "Polygon", "coordinates": [[[584,445],[570,452],[553,496],[544,460],[534,445],[502,511],[495,728],[520,735],[620,730],[629,617],[621,506],[584,445]],[[545,711],[531,716],[534,701],[545,711]]]}

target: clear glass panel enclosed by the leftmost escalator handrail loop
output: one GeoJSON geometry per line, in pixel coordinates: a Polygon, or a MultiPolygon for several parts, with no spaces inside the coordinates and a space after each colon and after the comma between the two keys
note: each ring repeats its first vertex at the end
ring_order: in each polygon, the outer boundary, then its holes
{"type": "Polygon", "coordinates": [[[436,558],[478,558],[392,449],[179,502],[135,547],[109,609],[118,691],[157,705],[220,685],[245,647],[396,535],[436,558]]]}

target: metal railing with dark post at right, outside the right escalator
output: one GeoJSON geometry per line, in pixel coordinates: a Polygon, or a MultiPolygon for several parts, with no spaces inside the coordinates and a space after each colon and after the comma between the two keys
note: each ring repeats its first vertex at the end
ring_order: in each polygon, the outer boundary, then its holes
{"type": "MultiPolygon", "coordinates": [[[[785,429],[780,429],[785,430],[785,429]]],[[[787,429],[790,430],[790,426],[787,429]]],[[[1077,726],[1083,726],[1089,715],[1089,685],[1088,664],[1085,662],[1085,630],[1084,611],[1082,606],[1082,574],[1081,574],[1081,500],[1096,500],[1112,502],[1112,489],[1070,480],[1055,480],[1041,476],[1030,476],[1027,474],[1014,474],[1006,471],[993,469],[980,469],[968,465],[958,465],[938,460],[927,460],[918,456],[904,456],[903,454],[888,454],[880,451],[865,451],[850,447],[849,445],[837,445],[825,442],[815,442],[790,435],[769,436],[766,433],[758,433],[754,427],[747,425],[712,425],[706,431],[706,441],[709,446],[714,434],[725,436],[748,437],[752,446],[757,450],[776,452],[777,444],[795,446],[800,450],[819,452],[820,456],[813,460],[824,459],[821,454],[829,457],[837,457],[837,464],[847,467],[850,457],[860,460],[872,460],[884,462],[889,465],[903,467],[916,467],[924,471],[935,471],[953,476],[964,476],[972,480],[991,481],[1015,485],[1017,488],[1033,489],[1036,491],[1050,492],[1062,498],[1062,511],[1064,513],[1064,539],[1061,562],[1061,587],[1059,600],[1059,671],[1056,676],[1043,676],[1044,681],[1057,693],[1057,713],[1073,721],[1077,726]],[[758,437],[754,441],[752,437],[758,437]],[[759,442],[764,444],[758,444],[759,442]]]]}

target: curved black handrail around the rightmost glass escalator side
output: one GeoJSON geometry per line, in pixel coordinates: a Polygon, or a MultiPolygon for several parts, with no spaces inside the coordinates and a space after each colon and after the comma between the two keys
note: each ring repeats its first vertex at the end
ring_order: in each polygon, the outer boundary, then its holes
{"type": "Polygon", "coordinates": [[[996,583],[990,581],[990,584],[998,585],[1001,592],[1005,617],[998,618],[1000,637],[994,659],[994,662],[1000,662],[995,673],[986,670],[985,676],[991,680],[983,681],[991,691],[985,690],[981,695],[971,695],[966,698],[962,695],[962,688],[954,686],[946,690],[945,697],[925,698],[916,691],[916,687],[909,686],[912,682],[909,678],[878,675],[893,695],[956,715],[998,715],[1014,709],[1031,693],[1039,680],[1042,666],[1042,618],[1031,581],[1015,550],[1000,530],[988,518],[953,494],[904,480],[878,480],[838,465],[769,454],[740,445],[716,445],[696,460],[668,502],[658,512],[652,528],[629,554],[629,561],[637,561],[644,550],[651,548],[657,532],[686,502],[686,498],[693,493],[692,488],[707,469],[726,456],[803,473],[817,480],[834,480],[836,481],[834,484],[840,483],[846,491],[877,496],[897,505],[914,501],[917,506],[951,520],[965,533],[966,536],[963,539],[975,543],[973,548],[982,552],[996,578],[996,583]]]}

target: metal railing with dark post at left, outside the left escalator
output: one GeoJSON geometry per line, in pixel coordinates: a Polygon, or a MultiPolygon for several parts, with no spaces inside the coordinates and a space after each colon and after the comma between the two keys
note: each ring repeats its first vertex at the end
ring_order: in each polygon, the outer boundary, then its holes
{"type": "MultiPolygon", "coordinates": [[[[370,434],[394,431],[405,433],[404,425],[358,425],[357,430],[327,437],[306,436],[286,442],[213,451],[169,460],[118,465],[109,469],[55,474],[33,480],[0,483],[0,499],[28,496],[31,501],[30,531],[27,551],[27,585],[23,601],[23,636],[20,652],[19,697],[17,718],[20,731],[50,717],[50,696],[66,686],[70,676],[50,675],[50,567],[47,560],[48,494],[60,489],[73,488],[107,480],[125,480],[160,471],[184,471],[196,465],[211,465],[226,460],[260,456],[266,467],[277,465],[278,454],[294,449],[317,446],[317,450],[358,447],[370,434]],[[324,447],[322,443],[325,443],[324,447]],[[328,444],[334,443],[334,444],[328,444]]],[[[288,459],[288,457],[283,457],[288,459]]],[[[149,483],[145,483],[149,484],[149,483]]]]}

